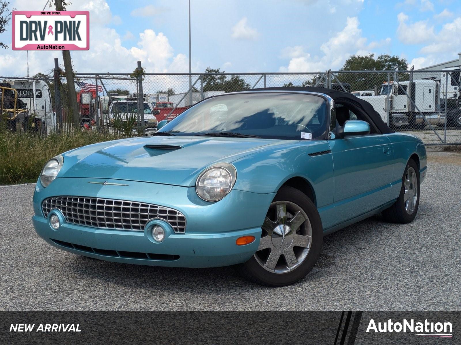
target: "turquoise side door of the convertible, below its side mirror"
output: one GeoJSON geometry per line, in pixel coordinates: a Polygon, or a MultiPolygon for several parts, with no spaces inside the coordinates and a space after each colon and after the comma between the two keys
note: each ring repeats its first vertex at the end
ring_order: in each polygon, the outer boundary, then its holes
{"type": "MultiPolygon", "coordinates": [[[[356,118],[351,114],[351,119],[356,118]]],[[[372,211],[389,201],[394,152],[385,134],[329,140],[334,169],[336,224],[372,211]]]]}

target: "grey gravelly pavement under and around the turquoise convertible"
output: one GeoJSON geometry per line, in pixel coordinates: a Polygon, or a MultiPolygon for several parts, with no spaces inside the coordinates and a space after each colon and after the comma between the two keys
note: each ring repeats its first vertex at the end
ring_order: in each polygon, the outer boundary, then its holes
{"type": "Polygon", "coordinates": [[[0,310],[461,310],[461,155],[430,153],[412,224],[376,216],[325,237],[311,273],[265,288],[231,267],[86,259],[32,227],[35,185],[0,187],[0,310]]]}

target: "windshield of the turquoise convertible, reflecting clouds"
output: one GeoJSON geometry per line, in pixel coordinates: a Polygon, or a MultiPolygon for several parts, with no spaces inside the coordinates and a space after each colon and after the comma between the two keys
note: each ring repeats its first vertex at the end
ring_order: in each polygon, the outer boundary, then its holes
{"type": "Polygon", "coordinates": [[[175,135],[238,133],[268,139],[324,139],[324,98],[296,93],[241,93],[209,98],[159,132],[175,135]]]}

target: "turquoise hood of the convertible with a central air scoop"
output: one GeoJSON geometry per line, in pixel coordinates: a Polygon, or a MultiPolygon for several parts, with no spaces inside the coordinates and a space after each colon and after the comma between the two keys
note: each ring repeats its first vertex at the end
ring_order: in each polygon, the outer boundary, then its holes
{"type": "Polygon", "coordinates": [[[267,146],[292,141],[260,138],[152,137],[84,146],[65,153],[59,178],[114,178],[194,186],[201,171],[267,146]]]}

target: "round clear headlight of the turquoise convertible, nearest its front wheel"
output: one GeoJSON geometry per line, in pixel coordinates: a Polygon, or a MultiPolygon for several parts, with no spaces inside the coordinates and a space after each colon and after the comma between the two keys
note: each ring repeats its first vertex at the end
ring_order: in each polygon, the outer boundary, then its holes
{"type": "Polygon", "coordinates": [[[218,201],[232,190],[236,178],[237,171],[232,164],[217,163],[200,174],[195,190],[205,201],[218,201]]]}

